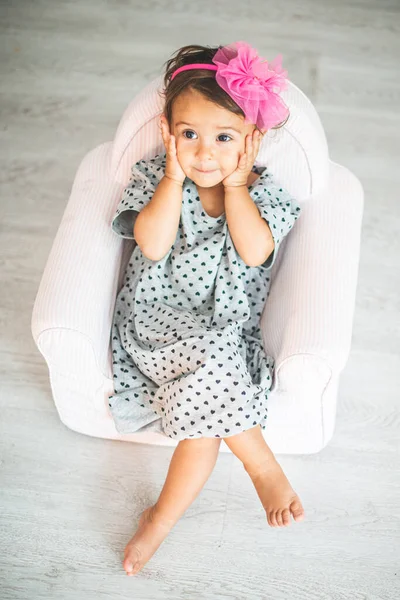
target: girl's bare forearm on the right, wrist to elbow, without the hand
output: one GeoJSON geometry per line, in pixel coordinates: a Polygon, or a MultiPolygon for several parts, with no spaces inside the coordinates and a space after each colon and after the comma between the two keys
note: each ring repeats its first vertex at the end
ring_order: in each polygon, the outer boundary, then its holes
{"type": "Polygon", "coordinates": [[[242,260],[249,267],[262,265],[274,251],[275,243],[247,185],[225,187],[225,215],[232,241],[242,260]]]}

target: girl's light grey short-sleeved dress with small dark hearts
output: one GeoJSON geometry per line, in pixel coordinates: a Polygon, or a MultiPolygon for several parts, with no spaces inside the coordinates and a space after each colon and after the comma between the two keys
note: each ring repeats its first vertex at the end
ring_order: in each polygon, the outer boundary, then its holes
{"type": "MultiPolygon", "coordinates": [[[[166,156],[138,161],[112,221],[133,239],[137,214],[164,175],[166,156]]],[[[183,184],[176,239],[159,261],[135,246],[115,305],[111,334],[114,394],[109,407],[120,433],[162,432],[175,440],[228,437],[267,421],[274,360],[259,327],[269,270],[300,215],[264,167],[249,194],[269,223],[275,250],[258,267],[236,252],[225,213],[203,209],[195,183],[183,184]]]]}

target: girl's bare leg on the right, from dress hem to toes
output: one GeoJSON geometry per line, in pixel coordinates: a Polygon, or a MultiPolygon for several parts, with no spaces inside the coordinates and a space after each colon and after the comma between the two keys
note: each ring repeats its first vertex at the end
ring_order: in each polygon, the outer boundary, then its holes
{"type": "Polygon", "coordinates": [[[290,525],[290,513],[295,521],[303,520],[300,498],[267,445],[260,425],[223,439],[250,475],[268,524],[271,527],[290,525]]]}

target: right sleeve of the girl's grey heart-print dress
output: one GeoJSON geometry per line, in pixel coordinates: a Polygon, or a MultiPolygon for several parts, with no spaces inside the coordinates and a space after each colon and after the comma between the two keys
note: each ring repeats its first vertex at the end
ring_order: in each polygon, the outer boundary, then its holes
{"type": "Polygon", "coordinates": [[[287,190],[272,180],[271,175],[262,178],[250,194],[260,215],[267,221],[274,239],[273,252],[265,262],[259,265],[261,268],[271,269],[275,264],[283,238],[300,216],[301,207],[287,190]]]}

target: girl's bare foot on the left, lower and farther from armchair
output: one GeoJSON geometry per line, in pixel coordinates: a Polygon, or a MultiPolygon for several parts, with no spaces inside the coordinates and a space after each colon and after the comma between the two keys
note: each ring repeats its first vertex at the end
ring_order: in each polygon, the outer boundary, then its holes
{"type": "Polygon", "coordinates": [[[156,516],[154,508],[150,506],[142,512],[136,533],[125,548],[122,565],[127,575],[141,571],[175,524],[156,516]]]}

